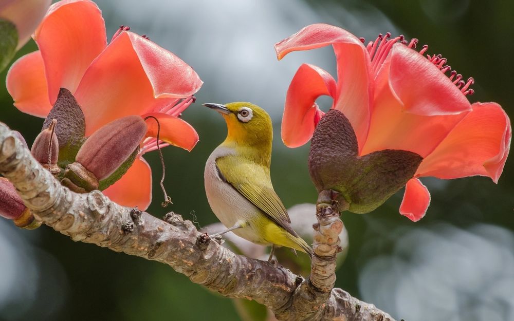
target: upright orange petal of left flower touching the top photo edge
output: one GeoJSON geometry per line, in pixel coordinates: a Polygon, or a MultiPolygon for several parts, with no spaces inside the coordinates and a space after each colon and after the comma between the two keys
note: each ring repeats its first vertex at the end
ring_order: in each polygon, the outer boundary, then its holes
{"type": "Polygon", "coordinates": [[[107,45],[101,11],[88,0],[53,4],[36,29],[34,40],[45,63],[52,104],[61,87],[75,92],[89,64],[107,45]]]}

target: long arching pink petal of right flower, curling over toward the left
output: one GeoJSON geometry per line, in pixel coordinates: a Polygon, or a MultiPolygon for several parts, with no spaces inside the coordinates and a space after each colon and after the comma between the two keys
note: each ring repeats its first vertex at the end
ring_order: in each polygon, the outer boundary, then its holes
{"type": "Polygon", "coordinates": [[[370,119],[373,84],[368,50],[352,33],[339,27],[310,25],[275,44],[278,59],[295,50],[332,45],[337,59],[337,94],[334,108],[354,127],[359,148],[364,145],[370,119]]]}

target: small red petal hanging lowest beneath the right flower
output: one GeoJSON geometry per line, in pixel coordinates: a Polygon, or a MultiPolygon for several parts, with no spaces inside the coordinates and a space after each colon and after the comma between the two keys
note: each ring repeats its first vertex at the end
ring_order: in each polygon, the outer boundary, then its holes
{"type": "Polygon", "coordinates": [[[401,201],[400,214],[417,222],[427,213],[428,205],[430,205],[430,193],[427,187],[417,178],[409,180],[401,201]]]}

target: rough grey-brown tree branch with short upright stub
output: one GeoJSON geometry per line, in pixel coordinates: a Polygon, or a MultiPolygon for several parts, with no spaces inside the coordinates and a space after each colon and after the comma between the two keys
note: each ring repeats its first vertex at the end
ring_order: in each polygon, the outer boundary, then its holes
{"type": "Polygon", "coordinates": [[[0,174],[14,184],[37,219],[71,239],[165,263],[227,297],[253,299],[279,319],[394,321],[373,305],[332,289],[342,222],[331,206],[318,208],[316,255],[311,277],[303,280],[285,268],[234,254],[180,215],[169,213],[160,220],[118,205],[99,191],[71,192],[3,123],[0,174]]]}

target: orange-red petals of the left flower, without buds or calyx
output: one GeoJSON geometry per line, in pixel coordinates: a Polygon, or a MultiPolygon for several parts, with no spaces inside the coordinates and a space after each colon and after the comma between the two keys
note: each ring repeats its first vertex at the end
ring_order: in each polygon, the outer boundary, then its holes
{"type": "MultiPolygon", "coordinates": [[[[53,4],[36,29],[39,51],[10,68],[7,89],[14,105],[26,114],[46,117],[61,87],[74,94],[85,117],[85,135],[129,115],[153,116],[146,121],[147,139],[139,156],[172,144],[191,150],[198,141],[194,128],[178,118],[203,83],[176,55],[121,27],[109,45],[100,9],[89,0],[53,4]]],[[[151,201],[151,171],[137,157],[128,172],[104,193],[125,206],[146,209],[151,201]]]]}

